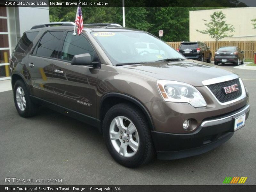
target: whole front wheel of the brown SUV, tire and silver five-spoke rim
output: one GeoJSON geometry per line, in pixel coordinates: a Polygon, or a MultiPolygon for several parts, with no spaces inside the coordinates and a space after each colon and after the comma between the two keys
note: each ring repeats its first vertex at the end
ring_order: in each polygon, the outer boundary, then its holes
{"type": "Polygon", "coordinates": [[[103,136],[111,156],[126,167],[137,167],[155,154],[148,122],[139,108],[120,103],[103,120],[103,136]]]}

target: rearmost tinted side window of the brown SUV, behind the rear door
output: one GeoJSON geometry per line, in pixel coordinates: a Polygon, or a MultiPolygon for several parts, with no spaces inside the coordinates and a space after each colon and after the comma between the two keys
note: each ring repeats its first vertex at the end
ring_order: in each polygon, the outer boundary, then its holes
{"type": "Polygon", "coordinates": [[[33,40],[35,39],[35,37],[37,36],[39,32],[29,32],[29,33],[25,33],[19,43],[17,44],[17,46],[15,47],[14,51],[15,52],[20,52],[20,53],[25,53],[28,49],[28,47],[32,47],[33,46],[33,40]]]}

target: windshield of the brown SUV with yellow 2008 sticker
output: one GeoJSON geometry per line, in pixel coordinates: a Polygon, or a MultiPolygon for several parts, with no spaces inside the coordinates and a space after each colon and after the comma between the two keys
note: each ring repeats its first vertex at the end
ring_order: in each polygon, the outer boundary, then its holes
{"type": "Polygon", "coordinates": [[[145,32],[92,32],[113,65],[186,59],[160,39],[145,32]]]}

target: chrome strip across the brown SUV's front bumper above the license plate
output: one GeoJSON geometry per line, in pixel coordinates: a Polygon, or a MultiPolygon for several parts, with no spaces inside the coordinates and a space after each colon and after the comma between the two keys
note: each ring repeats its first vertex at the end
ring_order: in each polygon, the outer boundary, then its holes
{"type": "Polygon", "coordinates": [[[226,122],[232,120],[233,117],[243,115],[243,114],[247,113],[249,110],[250,110],[250,104],[248,104],[241,111],[238,111],[237,113],[235,113],[233,115],[223,117],[223,118],[220,118],[220,119],[213,119],[213,120],[203,121],[200,126],[201,127],[208,127],[208,126],[212,126],[212,125],[226,123],[226,122]]]}

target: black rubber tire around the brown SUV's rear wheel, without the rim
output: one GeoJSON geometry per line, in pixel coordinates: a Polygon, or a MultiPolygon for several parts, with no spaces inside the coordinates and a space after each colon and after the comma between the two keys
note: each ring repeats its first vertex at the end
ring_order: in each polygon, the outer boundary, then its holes
{"type": "Polygon", "coordinates": [[[16,107],[18,113],[20,114],[20,116],[22,116],[22,117],[31,117],[31,116],[36,115],[38,106],[35,105],[31,101],[31,99],[29,97],[28,89],[27,89],[26,85],[24,84],[24,82],[21,81],[21,80],[16,81],[16,83],[14,85],[14,88],[13,88],[13,99],[14,99],[15,107],[16,107]],[[25,98],[25,101],[26,101],[26,106],[25,106],[24,110],[21,110],[19,108],[18,102],[16,100],[16,90],[18,89],[18,87],[21,87],[23,89],[23,91],[24,91],[24,98],[25,98]]]}

